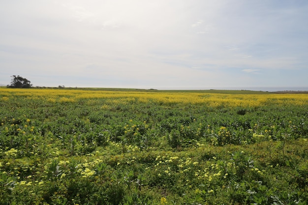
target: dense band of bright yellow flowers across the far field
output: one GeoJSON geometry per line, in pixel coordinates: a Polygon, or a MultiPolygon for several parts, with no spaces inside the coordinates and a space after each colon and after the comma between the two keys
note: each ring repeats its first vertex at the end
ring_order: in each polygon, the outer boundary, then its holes
{"type": "Polygon", "coordinates": [[[7,101],[19,96],[27,99],[43,99],[49,103],[75,103],[80,99],[95,104],[97,99],[106,99],[108,104],[148,103],[172,105],[204,104],[209,107],[259,107],[264,105],[308,105],[307,94],[218,94],[204,92],[145,92],[145,91],[103,91],[66,89],[10,89],[0,88],[0,100],[7,101]]]}

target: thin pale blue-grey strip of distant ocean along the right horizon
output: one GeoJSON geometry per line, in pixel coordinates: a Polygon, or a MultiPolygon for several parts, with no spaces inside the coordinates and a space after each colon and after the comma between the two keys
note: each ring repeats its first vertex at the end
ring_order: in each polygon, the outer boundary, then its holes
{"type": "Polygon", "coordinates": [[[166,90],[204,90],[204,89],[227,89],[227,90],[253,90],[253,91],[308,91],[308,87],[200,87],[200,88],[157,88],[166,90]]]}

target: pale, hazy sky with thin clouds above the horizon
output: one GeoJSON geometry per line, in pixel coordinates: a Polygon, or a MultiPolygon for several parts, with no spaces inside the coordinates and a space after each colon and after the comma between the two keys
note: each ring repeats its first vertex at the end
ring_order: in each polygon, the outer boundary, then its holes
{"type": "Polygon", "coordinates": [[[308,87],[307,0],[0,0],[0,84],[308,87]]]}

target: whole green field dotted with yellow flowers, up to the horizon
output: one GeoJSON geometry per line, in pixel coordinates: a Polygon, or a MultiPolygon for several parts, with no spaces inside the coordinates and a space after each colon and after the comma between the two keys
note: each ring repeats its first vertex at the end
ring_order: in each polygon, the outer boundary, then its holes
{"type": "Polygon", "coordinates": [[[308,94],[0,88],[1,205],[306,205],[308,94]]]}

